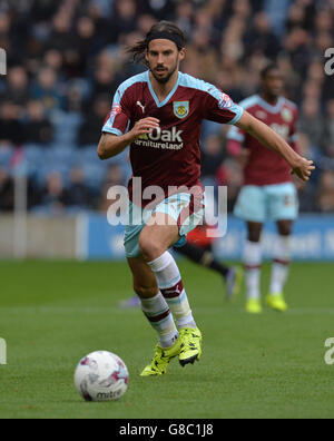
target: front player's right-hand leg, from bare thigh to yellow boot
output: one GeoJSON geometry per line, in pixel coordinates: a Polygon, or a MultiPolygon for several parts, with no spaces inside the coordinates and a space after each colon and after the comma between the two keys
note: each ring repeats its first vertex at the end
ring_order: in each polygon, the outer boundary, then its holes
{"type": "Polygon", "coordinates": [[[193,317],[177,264],[167,251],[178,239],[175,219],[166,214],[156,213],[140,234],[139,248],[176,318],[181,339],[179,362],[184,366],[200,359],[202,334],[193,317]]]}

